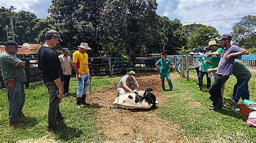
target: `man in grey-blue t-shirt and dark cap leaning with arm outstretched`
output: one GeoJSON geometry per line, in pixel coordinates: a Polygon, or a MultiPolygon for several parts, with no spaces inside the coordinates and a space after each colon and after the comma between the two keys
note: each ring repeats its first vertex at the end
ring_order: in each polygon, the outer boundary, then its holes
{"type": "Polygon", "coordinates": [[[240,55],[248,55],[248,51],[245,49],[231,45],[231,39],[232,36],[229,33],[225,33],[218,39],[220,41],[220,46],[224,47],[224,51],[221,55],[218,69],[214,77],[214,83],[208,90],[211,94],[210,100],[213,102],[213,107],[210,107],[210,110],[219,110],[222,108],[223,97],[221,96],[221,86],[226,83],[227,79],[232,74],[235,58],[240,55]]]}

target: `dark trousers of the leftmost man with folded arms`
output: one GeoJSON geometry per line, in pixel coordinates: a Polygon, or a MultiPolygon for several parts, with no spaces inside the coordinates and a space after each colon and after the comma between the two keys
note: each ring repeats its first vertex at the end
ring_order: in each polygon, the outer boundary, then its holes
{"type": "Polygon", "coordinates": [[[15,81],[14,88],[6,87],[9,105],[9,120],[18,121],[18,113],[22,112],[25,103],[24,84],[15,81]]]}

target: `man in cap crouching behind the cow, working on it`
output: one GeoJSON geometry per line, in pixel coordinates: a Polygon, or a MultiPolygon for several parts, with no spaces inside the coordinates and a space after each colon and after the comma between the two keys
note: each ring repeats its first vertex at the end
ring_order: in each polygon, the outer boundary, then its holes
{"type": "Polygon", "coordinates": [[[117,85],[118,95],[133,93],[133,90],[139,88],[139,83],[134,76],[135,72],[130,71],[127,72],[127,74],[120,79],[117,85]]]}

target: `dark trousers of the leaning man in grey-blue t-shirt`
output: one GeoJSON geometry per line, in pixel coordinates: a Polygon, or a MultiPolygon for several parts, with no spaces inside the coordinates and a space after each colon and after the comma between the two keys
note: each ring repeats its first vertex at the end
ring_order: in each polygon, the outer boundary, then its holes
{"type": "Polygon", "coordinates": [[[227,81],[228,78],[229,78],[229,76],[224,77],[221,74],[218,74],[218,73],[215,74],[214,82],[208,90],[210,95],[211,95],[210,100],[212,100],[212,102],[213,102],[212,105],[213,106],[216,105],[217,98],[222,98],[222,96],[221,96],[221,87],[227,81]]]}

